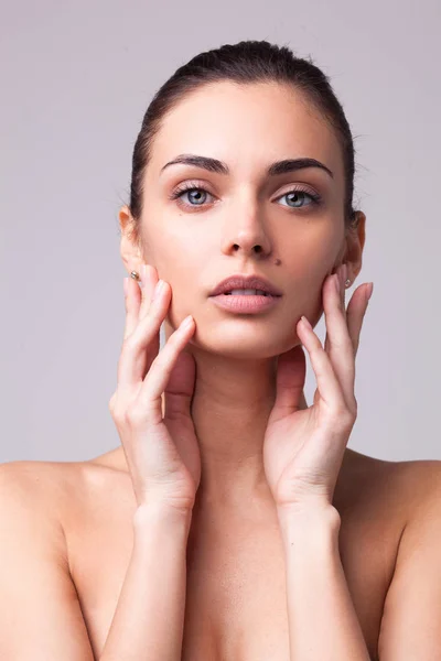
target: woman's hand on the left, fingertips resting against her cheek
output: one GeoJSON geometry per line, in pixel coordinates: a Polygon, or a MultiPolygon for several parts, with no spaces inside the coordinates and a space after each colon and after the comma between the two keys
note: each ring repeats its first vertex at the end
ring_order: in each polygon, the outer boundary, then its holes
{"type": "Polygon", "coordinates": [[[128,280],[118,383],[109,410],[138,507],[155,503],[189,511],[201,481],[201,455],[191,418],[195,362],[182,349],[194,334],[195,322],[191,317],[189,325],[181,323],[159,351],[171,286],[164,282],[158,292],[157,283],[157,270],[150,266],[142,292],[136,281],[128,280]]]}

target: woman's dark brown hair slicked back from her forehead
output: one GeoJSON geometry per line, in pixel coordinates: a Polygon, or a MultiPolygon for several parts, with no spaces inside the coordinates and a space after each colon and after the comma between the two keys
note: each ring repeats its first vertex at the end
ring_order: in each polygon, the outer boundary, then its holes
{"type": "Polygon", "coordinates": [[[338,138],[345,172],[344,221],[346,227],[354,224],[354,143],[343,108],[327,76],[312,64],[311,58],[295,57],[287,46],[267,41],[241,41],[200,53],[178,68],[157,91],[146,111],[133,148],[129,204],[133,219],[138,221],[141,217],[142,181],[151,159],[153,139],[164,117],[185,95],[222,80],[244,85],[277,82],[304,93],[308,101],[329,121],[338,138]]]}

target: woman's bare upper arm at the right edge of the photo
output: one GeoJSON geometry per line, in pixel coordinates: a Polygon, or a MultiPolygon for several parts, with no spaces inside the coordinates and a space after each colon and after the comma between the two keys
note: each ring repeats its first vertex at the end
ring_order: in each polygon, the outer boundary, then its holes
{"type": "Polygon", "coordinates": [[[441,462],[405,462],[402,470],[412,511],[386,595],[379,659],[435,661],[441,659],[441,462]]]}

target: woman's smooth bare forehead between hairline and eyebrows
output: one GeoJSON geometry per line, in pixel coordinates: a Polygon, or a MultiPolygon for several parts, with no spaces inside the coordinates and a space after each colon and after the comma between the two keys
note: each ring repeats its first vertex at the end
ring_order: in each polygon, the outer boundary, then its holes
{"type": "Polygon", "coordinates": [[[251,161],[265,166],[288,158],[316,159],[332,172],[342,169],[330,124],[303,95],[273,84],[204,86],[165,116],[153,142],[157,175],[181,153],[223,160],[232,174],[251,161]]]}

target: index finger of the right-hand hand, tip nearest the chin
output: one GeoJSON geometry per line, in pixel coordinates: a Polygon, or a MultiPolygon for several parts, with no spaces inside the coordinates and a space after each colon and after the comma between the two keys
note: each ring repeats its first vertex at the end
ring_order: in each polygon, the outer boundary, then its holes
{"type": "Polygon", "coordinates": [[[322,347],[322,343],[311,327],[311,324],[309,324],[308,319],[304,322],[303,318],[298,323],[297,332],[310,356],[320,397],[330,412],[341,412],[346,409],[346,402],[338,379],[334,372],[333,365],[329,355],[322,347]]]}

